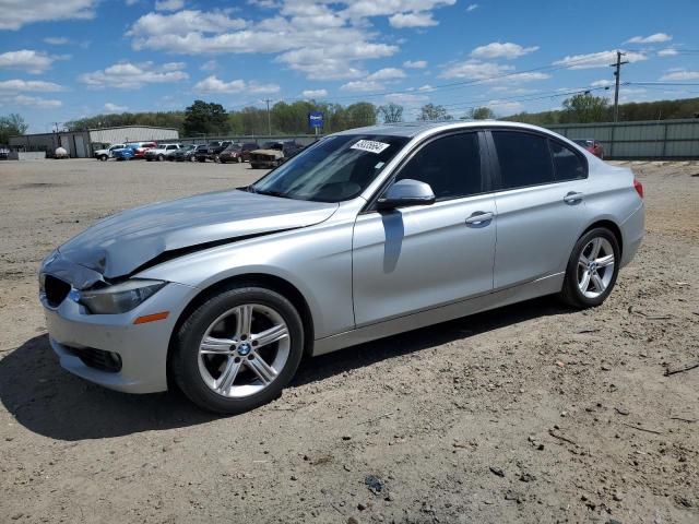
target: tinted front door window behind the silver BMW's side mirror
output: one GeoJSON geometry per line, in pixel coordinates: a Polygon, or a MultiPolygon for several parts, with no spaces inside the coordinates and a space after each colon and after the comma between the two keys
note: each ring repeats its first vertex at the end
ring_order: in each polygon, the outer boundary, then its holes
{"type": "Polygon", "coordinates": [[[428,183],[437,200],[481,193],[478,135],[452,134],[428,143],[401,169],[396,180],[406,178],[428,183]]]}

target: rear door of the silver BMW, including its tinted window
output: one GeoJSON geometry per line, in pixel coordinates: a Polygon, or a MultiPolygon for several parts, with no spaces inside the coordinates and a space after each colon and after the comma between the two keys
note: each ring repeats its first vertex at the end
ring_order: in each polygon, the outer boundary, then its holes
{"type": "Polygon", "coordinates": [[[588,164],[544,134],[493,129],[497,246],[494,287],[565,271],[585,223],[588,164]]]}

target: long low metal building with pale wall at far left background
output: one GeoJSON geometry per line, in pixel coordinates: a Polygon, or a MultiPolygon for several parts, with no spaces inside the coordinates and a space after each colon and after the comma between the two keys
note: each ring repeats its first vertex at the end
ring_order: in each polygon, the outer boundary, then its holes
{"type": "Polygon", "coordinates": [[[52,155],[56,148],[63,147],[72,158],[87,158],[93,155],[93,151],[108,144],[146,141],[163,142],[178,139],[179,132],[174,128],[122,126],[119,128],[88,129],[86,131],[10,136],[10,148],[12,151],[27,152],[45,151],[48,155],[52,155]]]}

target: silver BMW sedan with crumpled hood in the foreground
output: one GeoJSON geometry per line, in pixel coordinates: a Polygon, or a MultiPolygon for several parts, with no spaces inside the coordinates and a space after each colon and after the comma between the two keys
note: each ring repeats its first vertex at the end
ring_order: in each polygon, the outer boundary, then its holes
{"type": "Polygon", "coordinates": [[[630,169],[533,126],[354,129],[247,188],[103,219],[44,260],[39,296],[69,371],[241,413],[305,354],[544,295],[601,305],[642,199],[630,169]]]}

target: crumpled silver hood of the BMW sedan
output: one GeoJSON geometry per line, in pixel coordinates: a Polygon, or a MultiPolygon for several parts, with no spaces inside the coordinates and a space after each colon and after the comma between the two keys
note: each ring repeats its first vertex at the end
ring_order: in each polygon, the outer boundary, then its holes
{"type": "Polygon", "coordinates": [[[241,190],[199,194],[128,210],[98,222],[59,248],[60,258],[105,279],[133,273],[164,254],[241,237],[319,224],[337,204],[241,190]]]}

